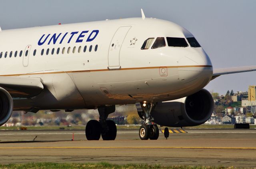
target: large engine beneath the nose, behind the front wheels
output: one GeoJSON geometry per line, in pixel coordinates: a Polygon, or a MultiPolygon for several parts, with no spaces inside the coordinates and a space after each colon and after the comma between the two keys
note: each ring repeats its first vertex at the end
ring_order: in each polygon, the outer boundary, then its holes
{"type": "Polygon", "coordinates": [[[211,93],[202,89],[181,99],[157,103],[151,115],[158,125],[186,127],[205,123],[211,117],[213,109],[211,93]]]}

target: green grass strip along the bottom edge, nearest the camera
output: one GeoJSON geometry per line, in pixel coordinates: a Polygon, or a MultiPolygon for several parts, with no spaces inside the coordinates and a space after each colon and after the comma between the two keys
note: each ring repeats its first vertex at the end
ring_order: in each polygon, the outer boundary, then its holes
{"type": "Polygon", "coordinates": [[[232,169],[234,167],[204,167],[191,165],[147,165],[125,164],[116,165],[106,162],[101,163],[23,163],[23,164],[0,164],[0,169],[232,169]]]}

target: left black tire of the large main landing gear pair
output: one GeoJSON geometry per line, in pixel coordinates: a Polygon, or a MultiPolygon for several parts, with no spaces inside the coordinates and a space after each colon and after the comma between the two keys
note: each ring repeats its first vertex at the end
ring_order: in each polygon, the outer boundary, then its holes
{"type": "Polygon", "coordinates": [[[97,120],[88,121],[85,127],[85,135],[87,140],[99,140],[101,133],[101,125],[97,120]]]}

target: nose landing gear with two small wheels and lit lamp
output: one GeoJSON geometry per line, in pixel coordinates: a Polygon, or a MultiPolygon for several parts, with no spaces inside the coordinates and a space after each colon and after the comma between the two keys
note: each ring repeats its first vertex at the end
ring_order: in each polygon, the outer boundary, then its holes
{"type": "Polygon", "coordinates": [[[139,136],[142,140],[157,140],[159,137],[159,129],[156,124],[152,123],[154,118],[150,115],[154,106],[155,103],[136,103],[138,114],[144,120],[144,124],[139,129],[139,136]]]}

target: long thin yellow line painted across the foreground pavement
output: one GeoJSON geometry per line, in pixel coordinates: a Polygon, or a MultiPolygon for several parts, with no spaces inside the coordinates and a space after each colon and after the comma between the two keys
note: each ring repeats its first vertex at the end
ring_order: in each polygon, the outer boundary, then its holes
{"type": "Polygon", "coordinates": [[[255,149],[256,147],[0,147],[0,149],[255,149]]]}

